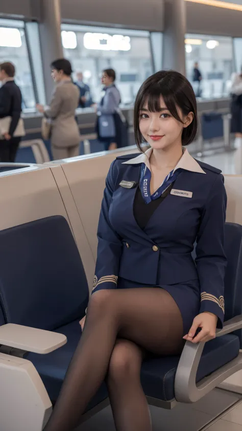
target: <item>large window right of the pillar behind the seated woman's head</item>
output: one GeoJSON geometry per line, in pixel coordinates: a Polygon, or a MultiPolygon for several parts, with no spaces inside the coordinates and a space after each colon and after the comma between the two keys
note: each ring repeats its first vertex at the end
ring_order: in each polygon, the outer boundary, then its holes
{"type": "Polygon", "coordinates": [[[187,34],[185,39],[186,73],[198,96],[204,99],[229,95],[233,72],[231,37],[187,34]],[[202,80],[193,81],[194,63],[198,62],[202,80]]]}

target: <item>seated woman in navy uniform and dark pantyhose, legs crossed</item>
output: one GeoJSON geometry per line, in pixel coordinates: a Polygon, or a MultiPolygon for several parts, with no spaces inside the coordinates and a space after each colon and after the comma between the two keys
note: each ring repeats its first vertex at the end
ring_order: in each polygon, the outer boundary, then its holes
{"type": "Polygon", "coordinates": [[[221,171],[184,147],[197,132],[187,79],[173,71],[148,78],[134,127],[138,148],[142,140],[151,148],[110,167],[83,335],[45,431],[74,429],[105,378],[116,429],[151,431],[144,355],[180,354],[184,339],[206,342],[223,325],[226,192],[221,171]]]}

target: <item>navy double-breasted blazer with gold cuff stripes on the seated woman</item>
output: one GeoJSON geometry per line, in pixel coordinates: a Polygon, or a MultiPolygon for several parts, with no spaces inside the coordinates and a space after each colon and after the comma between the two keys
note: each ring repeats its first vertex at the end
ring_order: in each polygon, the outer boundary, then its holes
{"type": "Polygon", "coordinates": [[[98,258],[93,291],[116,288],[118,276],[159,286],[199,279],[200,312],[224,320],[224,225],[227,196],[221,170],[199,162],[204,174],[183,170],[173,189],[142,230],[133,214],[141,164],[124,164],[137,154],[117,157],[107,178],[98,225],[98,258]],[[135,182],[133,188],[120,186],[135,182]],[[196,261],[191,253],[196,243],[196,261]]]}

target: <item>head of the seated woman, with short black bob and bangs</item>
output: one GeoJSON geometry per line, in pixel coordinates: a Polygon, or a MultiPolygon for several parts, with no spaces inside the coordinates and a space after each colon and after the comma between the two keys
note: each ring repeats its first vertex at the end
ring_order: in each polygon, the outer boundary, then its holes
{"type": "Polygon", "coordinates": [[[197,102],[189,81],[175,71],[159,71],[143,82],[134,104],[135,141],[154,149],[188,145],[197,134],[197,102]]]}

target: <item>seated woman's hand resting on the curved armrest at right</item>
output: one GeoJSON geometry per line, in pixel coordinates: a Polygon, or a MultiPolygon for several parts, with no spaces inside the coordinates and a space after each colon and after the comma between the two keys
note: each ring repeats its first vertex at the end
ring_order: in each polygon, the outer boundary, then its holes
{"type": "Polygon", "coordinates": [[[210,312],[198,314],[193,320],[190,331],[183,338],[194,344],[209,341],[215,338],[216,325],[217,316],[215,314],[210,312]],[[201,328],[201,331],[195,337],[198,328],[201,328]]]}

